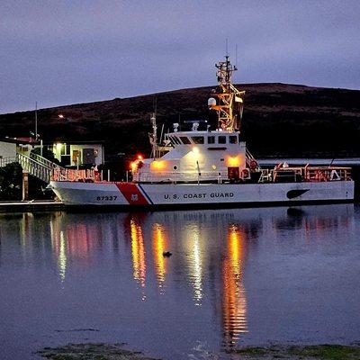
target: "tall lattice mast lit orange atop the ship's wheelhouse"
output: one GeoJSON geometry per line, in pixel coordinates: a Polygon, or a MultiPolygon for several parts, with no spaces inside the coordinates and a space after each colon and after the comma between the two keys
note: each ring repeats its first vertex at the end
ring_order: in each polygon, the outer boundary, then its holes
{"type": "Polygon", "coordinates": [[[211,104],[211,108],[218,112],[218,128],[229,131],[239,130],[245,91],[239,91],[231,83],[231,76],[238,68],[231,65],[228,54],[225,56],[225,61],[219,61],[215,67],[218,69],[216,76],[220,92],[215,94],[218,102],[211,104]]]}

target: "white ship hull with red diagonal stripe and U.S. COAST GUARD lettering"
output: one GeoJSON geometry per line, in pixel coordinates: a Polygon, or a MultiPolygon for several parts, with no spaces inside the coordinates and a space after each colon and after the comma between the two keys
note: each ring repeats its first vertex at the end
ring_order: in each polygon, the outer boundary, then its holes
{"type": "Polygon", "coordinates": [[[51,182],[66,205],[231,207],[297,202],[352,202],[354,181],[273,184],[134,184],[51,182]]]}

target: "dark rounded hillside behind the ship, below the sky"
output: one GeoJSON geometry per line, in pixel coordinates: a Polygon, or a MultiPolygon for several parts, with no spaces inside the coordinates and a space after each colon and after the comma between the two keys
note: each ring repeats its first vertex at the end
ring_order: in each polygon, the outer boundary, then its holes
{"type": "MultiPolygon", "coordinates": [[[[359,156],[360,91],[304,85],[239,85],[247,91],[243,139],[257,156],[359,156]]],[[[148,150],[157,97],[158,128],[205,119],[211,87],[176,90],[38,112],[43,139],[102,139],[108,154],[148,150]],[[63,114],[60,119],[58,114],[63,114]]],[[[0,115],[0,136],[29,136],[33,112],[0,115]]]]}

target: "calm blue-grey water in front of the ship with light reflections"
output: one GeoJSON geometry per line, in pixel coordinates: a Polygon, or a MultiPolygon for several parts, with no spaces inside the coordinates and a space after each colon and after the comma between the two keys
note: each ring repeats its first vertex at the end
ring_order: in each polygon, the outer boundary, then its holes
{"type": "Polygon", "coordinates": [[[359,230],[353,204],[0,214],[0,358],[90,341],[165,359],[351,343],[359,230]]]}

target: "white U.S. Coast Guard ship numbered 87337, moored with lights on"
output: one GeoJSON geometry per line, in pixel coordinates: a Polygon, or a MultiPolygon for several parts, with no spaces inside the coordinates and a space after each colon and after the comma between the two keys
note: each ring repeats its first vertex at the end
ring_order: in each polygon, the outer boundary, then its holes
{"type": "Polygon", "coordinates": [[[95,169],[55,168],[49,187],[59,200],[124,209],[354,201],[350,167],[259,166],[240,130],[245,91],[231,82],[238,68],[229,55],[215,67],[218,85],[208,99],[209,119],[176,122],[158,139],[153,113],[151,154],[131,162],[127,181],[104,181],[95,169]]]}

